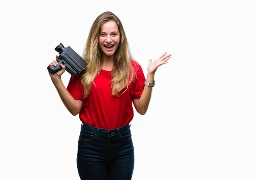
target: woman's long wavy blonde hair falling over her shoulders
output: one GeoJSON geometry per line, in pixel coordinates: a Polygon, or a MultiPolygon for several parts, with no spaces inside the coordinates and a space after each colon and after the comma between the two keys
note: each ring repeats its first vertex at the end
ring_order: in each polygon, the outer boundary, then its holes
{"type": "MultiPolygon", "coordinates": [[[[84,87],[84,95],[88,96],[94,78],[101,70],[102,51],[99,49],[99,35],[102,24],[107,21],[114,21],[120,33],[119,46],[114,55],[114,69],[111,72],[111,89],[113,96],[119,96],[122,90],[127,90],[128,85],[134,80],[135,71],[131,60],[131,52],[122,23],[112,12],[104,12],[99,15],[91,26],[87,42],[84,46],[82,57],[88,63],[85,73],[81,76],[81,83],[84,87]]],[[[122,92],[123,93],[123,92],[122,92]]]]}

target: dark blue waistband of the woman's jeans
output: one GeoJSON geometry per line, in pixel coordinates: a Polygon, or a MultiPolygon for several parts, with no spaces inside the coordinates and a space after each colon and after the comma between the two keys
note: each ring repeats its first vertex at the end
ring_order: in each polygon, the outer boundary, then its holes
{"type": "Polygon", "coordinates": [[[128,131],[130,129],[130,127],[131,127],[131,124],[129,123],[128,125],[122,126],[120,128],[108,130],[108,129],[96,128],[96,127],[84,124],[83,122],[81,124],[81,130],[89,131],[89,132],[95,133],[95,134],[107,135],[107,136],[109,136],[111,134],[112,135],[119,134],[119,133],[128,131]]]}

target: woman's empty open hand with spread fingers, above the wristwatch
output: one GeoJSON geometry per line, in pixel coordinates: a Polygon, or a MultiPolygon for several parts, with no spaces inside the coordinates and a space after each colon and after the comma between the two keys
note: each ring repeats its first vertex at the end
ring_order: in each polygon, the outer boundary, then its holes
{"type": "Polygon", "coordinates": [[[148,73],[154,75],[157,68],[160,67],[162,64],[168,63],[168,59],[171,58],[171,54],[167,54],[167,52],[163,53],[159,58],[157,58],[153,63],[152,59],[149,59],[148,64],[148,73]]]}

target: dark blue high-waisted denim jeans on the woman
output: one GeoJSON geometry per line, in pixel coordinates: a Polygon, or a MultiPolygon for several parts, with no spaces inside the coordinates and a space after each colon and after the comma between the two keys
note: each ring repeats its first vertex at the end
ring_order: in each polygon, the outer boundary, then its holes
{"type": "Polygon", "coordinates": [[[107,130],[82,123],[77,168],[81,180],[131,180],[134,146],[130,124],[107,130]]]}

